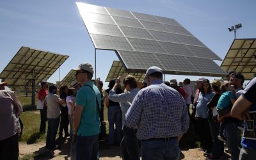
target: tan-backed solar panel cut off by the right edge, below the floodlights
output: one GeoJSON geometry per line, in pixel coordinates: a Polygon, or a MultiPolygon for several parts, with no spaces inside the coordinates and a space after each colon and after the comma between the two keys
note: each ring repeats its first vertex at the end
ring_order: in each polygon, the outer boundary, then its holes
{"type": "Polygon", "coordinates": [[[228,72],[241,72],[245,79],[252,79],[256,73],[256,38],[236,39],[221,63],[221,68],[228,72]]]}

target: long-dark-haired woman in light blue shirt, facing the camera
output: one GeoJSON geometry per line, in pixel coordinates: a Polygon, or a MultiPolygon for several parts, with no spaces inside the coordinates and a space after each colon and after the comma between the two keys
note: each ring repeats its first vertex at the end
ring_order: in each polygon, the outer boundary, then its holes
{"type": "Polygon", "coordinates": [[[198,124],[199,137],[201,147],[204,149],[204,156],[211,153],[212,150],[212,136],[208,122],[208,108],[207,103],[210,102],[214,93],[211,91],[211,84],[208,79],[205,79],[200,89],[198,104],[196,106],[196,122],[198,124]]]}

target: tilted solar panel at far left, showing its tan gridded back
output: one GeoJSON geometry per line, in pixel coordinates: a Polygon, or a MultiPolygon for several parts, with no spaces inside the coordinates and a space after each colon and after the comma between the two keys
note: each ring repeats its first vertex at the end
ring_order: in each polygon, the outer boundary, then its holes
{"type": "Polygon", "coordinates": [[[0,74],[9,86],[31,86],[46,81],[66,61],[67,55],[21,47],[0,74]]]}

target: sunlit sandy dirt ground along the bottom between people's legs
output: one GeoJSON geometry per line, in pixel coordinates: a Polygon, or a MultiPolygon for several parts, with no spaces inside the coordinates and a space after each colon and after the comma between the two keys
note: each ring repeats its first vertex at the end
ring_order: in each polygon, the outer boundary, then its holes
{"type": "MultiPolygon", "coordinates": [[[[26,143],[20,143],[20,157],[19,159],[70,159],[70,147],[67,142],[61,145],[58,150],[49,150],[44,148],[45,143],[35,143],[27,145],[26,143]]],[[[121,150],[118,146],[106,146],[100,147],[100,159],[114,160],[122,159],[121,150]]],[[[189,150],[181,150],[180,159],[205,159],[203,152],[198,148],[189,150]]],[[[230,156],[226,154],[223,159],[230,159],[230,156]]]]}

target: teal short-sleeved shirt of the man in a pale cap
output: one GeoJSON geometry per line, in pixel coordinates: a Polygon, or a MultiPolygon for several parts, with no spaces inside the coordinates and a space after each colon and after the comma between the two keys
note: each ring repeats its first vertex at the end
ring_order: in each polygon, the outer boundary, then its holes
{"type": "Polygon", "coordinates": [[[100,117],[98,111],[100,106],[97,106],[95,96],[97,96],[98,104],[100,105],[100,92],[93,82],[84,83],[82,88],[77,91],[76,106],[83,106],[77,135],[93,136],[100,132],[100,117]],[[95,93],[90,86],[92,86],[95,93]]]}

